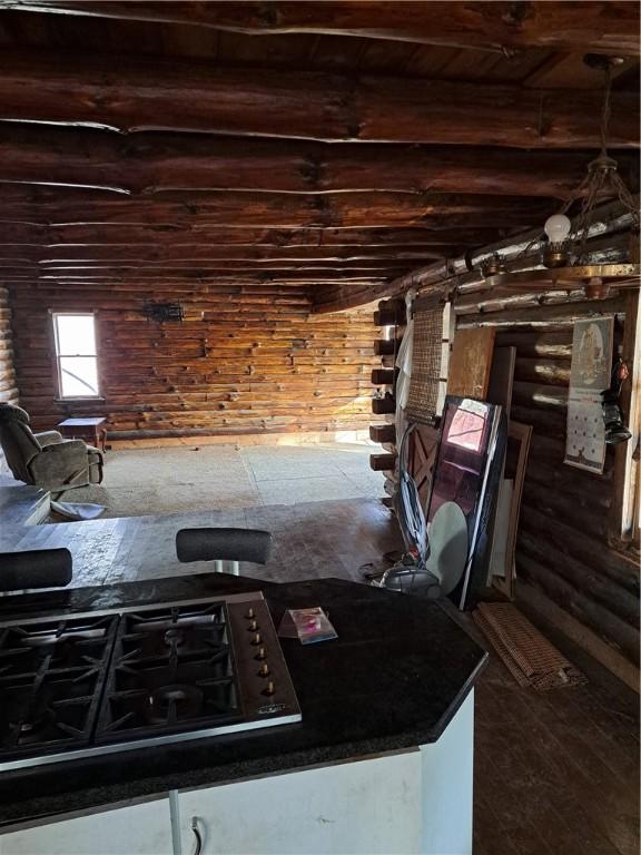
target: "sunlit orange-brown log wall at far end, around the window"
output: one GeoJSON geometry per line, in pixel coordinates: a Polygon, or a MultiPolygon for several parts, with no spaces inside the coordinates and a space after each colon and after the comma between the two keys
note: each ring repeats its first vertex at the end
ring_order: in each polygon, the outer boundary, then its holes
{"type": "Polygon", "coordinates": [[[183,323],[142,315],[149,292],[21,287],[11,294],[21,404],[36,429],[105,415],[114,439],[366,430],[372,309],[312,315],[302,288],[197,287],[162,292],[183,323]],[[49,311],[96,311],[97,402],[56,400],[49,311]]]}

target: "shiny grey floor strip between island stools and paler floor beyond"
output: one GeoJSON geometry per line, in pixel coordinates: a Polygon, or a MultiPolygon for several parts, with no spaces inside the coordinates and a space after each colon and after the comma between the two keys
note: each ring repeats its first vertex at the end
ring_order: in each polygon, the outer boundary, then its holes
{"type": "Polygon", "coordinates": [[[204,573],[211,572],[211,563],[178,562],[176,532],[208,525],[270,531],[274,548],[269,562],[264,567],[243,564],[240,571],[277,582],[322,577],[361,581],[361,566],[383,567],[383,556],[402,546],[398,527],[381,502],[353,499],[51,525],[3,525],[0,552],[66,547],[73,559],[71,587],[204,573]]]}

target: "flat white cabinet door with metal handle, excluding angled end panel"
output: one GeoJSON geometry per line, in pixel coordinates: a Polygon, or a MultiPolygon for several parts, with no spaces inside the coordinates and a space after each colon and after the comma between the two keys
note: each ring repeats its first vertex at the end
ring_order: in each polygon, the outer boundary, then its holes
{"type": "Polygon", "coordinates": [[[421,851],[421,751],[178,795],[180,855],[413,855],[421,851]]]}

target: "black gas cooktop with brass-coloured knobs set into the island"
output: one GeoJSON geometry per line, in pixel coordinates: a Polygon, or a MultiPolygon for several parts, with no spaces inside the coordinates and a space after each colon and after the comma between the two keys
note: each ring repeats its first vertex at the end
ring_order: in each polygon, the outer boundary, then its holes
{"type": "Polygon", "coordinates": [[[300,718],[262,593],[0,623],[0,770],[300,718]]]}

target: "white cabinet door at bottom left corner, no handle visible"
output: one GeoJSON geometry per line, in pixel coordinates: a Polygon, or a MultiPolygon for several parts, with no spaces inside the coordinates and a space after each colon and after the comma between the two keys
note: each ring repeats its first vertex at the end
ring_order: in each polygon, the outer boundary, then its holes
{"type": "Polygon", "coordinates": [[[0,855],[172,855],[169,799],[0,835],[0,855]]]}

